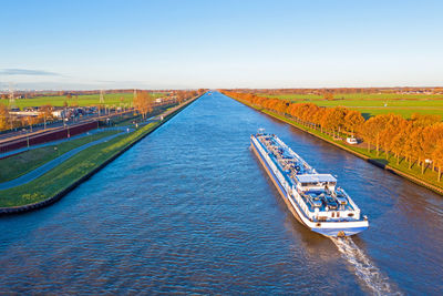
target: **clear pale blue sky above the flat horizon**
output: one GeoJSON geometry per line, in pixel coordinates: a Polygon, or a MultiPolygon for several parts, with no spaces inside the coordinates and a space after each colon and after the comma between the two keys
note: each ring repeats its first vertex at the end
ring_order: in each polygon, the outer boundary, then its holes
{"type": "Polygon", "coordinates": [[[0,89],[443,85],[443,1],[0,1],[0,89]]]}

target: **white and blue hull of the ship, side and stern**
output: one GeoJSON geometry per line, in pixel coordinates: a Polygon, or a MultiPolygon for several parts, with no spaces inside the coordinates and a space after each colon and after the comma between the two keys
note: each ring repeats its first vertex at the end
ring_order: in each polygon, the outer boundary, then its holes
{"type": "MultiPolygon", "coordinates": [[[[254,137],[253,137],[254,139],[254,137]]],[[[324,236],[350,236],[358,234],[368,228],[369,224],[367,221],[356,221],[356,222],[312,222],[310,221],[301,211],[301,208],[297,205],[293,198],[290,197],[285,187],[280,184],[278,177],[275,175],[272,170],[270,169],[268,161],[261,155],[260,150],[257,147],[257,144],[251,139],[251,149],[256,154],[257,159],[260,161],[262,167],[269,175],[277,191],[279,192],[281,198],[284,200],[286,206],[291,212],[293,217],[297,218],[302,225],[316,232],[318,234],[324,236]]]]}

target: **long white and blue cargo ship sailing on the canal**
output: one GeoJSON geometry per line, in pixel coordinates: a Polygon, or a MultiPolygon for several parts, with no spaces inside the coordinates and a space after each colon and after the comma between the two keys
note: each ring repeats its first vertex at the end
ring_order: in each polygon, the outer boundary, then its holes
{"type": "Polygon", "coordinates": [[[319,174],[275,134],[259,130],[251,147],[293,216],[312,232],[349,236],[369,227],[367,216],[331,174],[319,174]]]}

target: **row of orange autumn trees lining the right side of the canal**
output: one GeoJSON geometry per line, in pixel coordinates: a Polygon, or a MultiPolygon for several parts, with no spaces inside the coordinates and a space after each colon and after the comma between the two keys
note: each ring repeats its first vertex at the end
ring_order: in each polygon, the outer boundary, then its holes
{"type": "Polygon", "coordinates": [[[291,103],[281,99],[269,99],[251,93],[224,91],[228,96],[248,101],[255,105],[291,116],[298,123],[328,133],[356,135],[367,143],[368,151],[377,156],[394,156],[399,164],[408,162],[421,166],[422,174],[429,163],[439,170],[439,182],[443,169],[443,122],[440,115],[413,114],[410,120],[398,114],[380,114],[364,120],[360,112],[344,106],[322,108],[313,103],[291,103]]]}

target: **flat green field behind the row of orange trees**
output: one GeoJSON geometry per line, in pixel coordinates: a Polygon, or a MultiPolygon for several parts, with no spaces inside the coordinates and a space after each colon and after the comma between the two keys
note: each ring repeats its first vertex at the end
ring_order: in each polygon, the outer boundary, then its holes
{"type": "Polygon", "coordinates": [[[276,94],[257,95],[279,98],[291,102],[311,102],[320,106],[347,106],[360,111],[364,118],[395,113],[409,119],[412,113],[439,114],[443,116],[443,95],[441,94],[334,94],[334,100],[327,101],[316,94],[276,94]]]}

